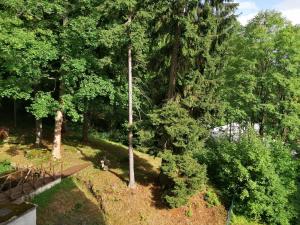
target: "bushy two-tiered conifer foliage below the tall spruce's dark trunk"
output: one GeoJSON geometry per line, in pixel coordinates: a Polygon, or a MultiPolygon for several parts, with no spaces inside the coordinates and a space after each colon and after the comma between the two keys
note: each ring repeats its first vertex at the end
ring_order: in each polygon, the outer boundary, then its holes
{"type": "Polygon", "coordinates": [[[206,183],[206,167],[194,158],[203,150],[205,129],[176,102],[154,110],[149,117],[154,132],[140,132],[142,141],[152,145],[152,154],[162,157],[161,172],[169,180],[164,187],[167,204],[182,206],[206,183]]]}

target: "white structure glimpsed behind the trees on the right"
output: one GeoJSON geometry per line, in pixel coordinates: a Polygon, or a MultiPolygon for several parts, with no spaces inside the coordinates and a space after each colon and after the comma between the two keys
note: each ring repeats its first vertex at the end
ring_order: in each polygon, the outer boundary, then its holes
{"type": "MultiPolygon", "coordinates": [[[[211,136],[213,138],[219,137],[231,137],[232,140],[238,140],[240,136],[246,131],[247,126],[241,125],[239,123],[230,123],[221,127],[215,127],[211,131],[211,136]]],[[[254,131],[259,133],[259,124],[255,123],[254,131]]]]}

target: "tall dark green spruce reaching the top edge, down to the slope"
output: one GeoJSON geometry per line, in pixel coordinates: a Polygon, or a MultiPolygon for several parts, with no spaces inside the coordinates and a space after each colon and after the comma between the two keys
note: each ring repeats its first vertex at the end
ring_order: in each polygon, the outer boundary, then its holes
{"type": "Polygon", "coordinates": [[[150,143],[155,146],[152,151],[163,157],[162,174],[173,183],[166,185],[165,195],[171,207],[184,204],[205,183],[205,166],[194,157],[202,154],[208,129],[222,118],[219,87],[236,6],[231,1],[184,0],[151,5],[150,66],[156,74],[152,85],[161,89],[150,94],[158,107],[149,114],[154,130],[150,143]],[[197,172],[179,168],[181,160],[188,160],[197,172]],[[167,168],[179,172],[174,176],[167,168]],[[189,181],[195,181],[190,190],[189,181]]]}

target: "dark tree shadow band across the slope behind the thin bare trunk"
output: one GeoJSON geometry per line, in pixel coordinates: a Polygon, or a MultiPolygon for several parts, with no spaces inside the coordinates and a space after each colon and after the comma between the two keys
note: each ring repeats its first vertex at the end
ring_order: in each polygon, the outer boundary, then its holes
{"type": "MultiPolygon", "coordinates": [[[[128,150],[125,146],[112,143],[106,140],[92,139],[89,143],[85,143],[93,149],[100,150],[93,156],[86,154],[82,148],[83,145],[80,142],[74,142],[74,140],[65,141],[66,144],[76,147],[81,152],[83,160],[90,161],[94,167],[101,169],[101,160],[106,158],[110,161],[109,172],[117,176],[120,180],[129,183],[129,171],[128,171],[128,150]]],[[[134,154],[135,163],[135,179],[136,182],[143,186],[151,185],[152,205],[159,209],[167,208],[166,204],[162,202],[162,191],[159,186],[159,171],[153,166],[147,159],[142,158],[134,154]]],[[[149,159],[151,156],[148,156],[149,159]]]]}

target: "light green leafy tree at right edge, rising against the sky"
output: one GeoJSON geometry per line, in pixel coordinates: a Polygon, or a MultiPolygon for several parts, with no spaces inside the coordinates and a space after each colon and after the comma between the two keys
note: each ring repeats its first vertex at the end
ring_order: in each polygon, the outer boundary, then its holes
{"type": "Polygon", "coordinates": [[[260,134],[299,138],[299,29],[280,13],[259,13],[232,40],[224,96],[231,122],[259,123],[260,134]]]}

